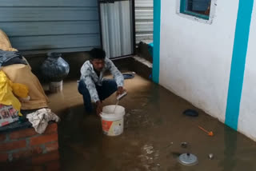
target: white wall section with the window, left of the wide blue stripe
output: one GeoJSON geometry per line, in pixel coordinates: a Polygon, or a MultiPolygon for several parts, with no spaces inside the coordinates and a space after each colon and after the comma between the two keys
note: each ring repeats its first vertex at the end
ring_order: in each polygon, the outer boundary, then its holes
{"type": "Polygon", "coordinates": [[[178,1],[162,0],[159,83],[224,122],[238,0],[217,0],[212,24],[182,18],[178,1]]]}

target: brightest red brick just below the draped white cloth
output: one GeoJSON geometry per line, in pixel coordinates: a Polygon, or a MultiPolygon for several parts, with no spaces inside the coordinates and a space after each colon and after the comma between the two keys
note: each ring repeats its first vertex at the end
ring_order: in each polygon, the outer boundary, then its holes
{"type": "Polygon", "coordinates": [[[30,145],[42,145],[50,141],[58,141],[58,134],[53,133],[53,134],[41,135],[38,137],[31,137],[30,145]]]}

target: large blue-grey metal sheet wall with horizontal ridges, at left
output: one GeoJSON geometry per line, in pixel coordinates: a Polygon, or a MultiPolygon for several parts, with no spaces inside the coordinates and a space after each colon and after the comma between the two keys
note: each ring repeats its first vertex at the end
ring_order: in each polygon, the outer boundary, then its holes
{"type": "Polygon", "coordinates": [[[100,46],[98,0],[1,0],[0,29],[23,54],[100,46]]]}

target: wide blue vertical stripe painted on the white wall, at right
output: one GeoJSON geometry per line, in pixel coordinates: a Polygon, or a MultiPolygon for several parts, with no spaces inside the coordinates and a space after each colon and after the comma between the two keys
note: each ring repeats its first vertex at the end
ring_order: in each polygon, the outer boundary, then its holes
{"type": "Polygon", "coordinates": [[[239,1],[225,121],[226,125],[229,125],[233,129],[238,129],[242,84],[246,65],[246,54],[253,6],[254,0],[239,1]]]}

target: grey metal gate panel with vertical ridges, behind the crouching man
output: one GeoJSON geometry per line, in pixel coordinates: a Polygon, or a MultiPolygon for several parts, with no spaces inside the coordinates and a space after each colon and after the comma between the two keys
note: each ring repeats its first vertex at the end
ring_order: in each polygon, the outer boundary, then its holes
{"type": "Polygon", "coordinates": [[[101,4],[102,41],[107,57],[133,54],[131,1],[101,4]]]}

